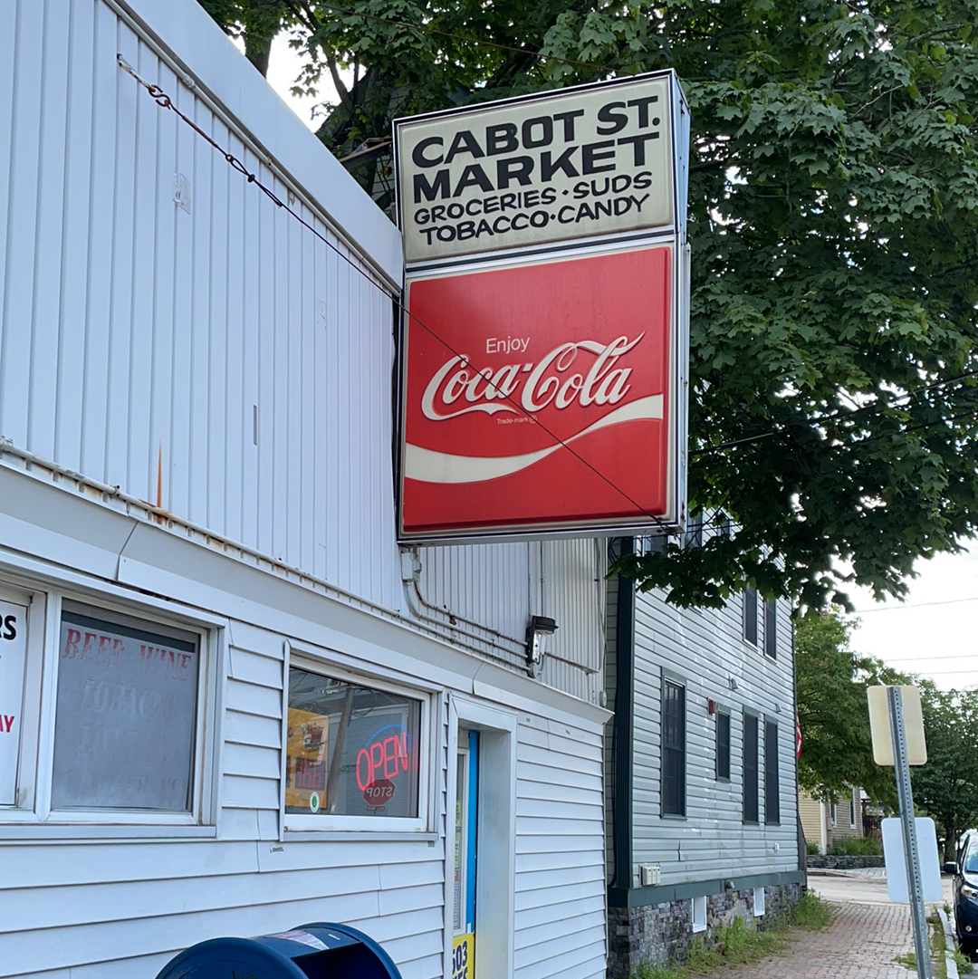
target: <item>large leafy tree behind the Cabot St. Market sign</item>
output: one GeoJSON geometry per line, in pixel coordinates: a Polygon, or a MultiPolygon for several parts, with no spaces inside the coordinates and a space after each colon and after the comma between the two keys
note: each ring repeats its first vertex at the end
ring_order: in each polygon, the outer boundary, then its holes
{"type": "Polygon", "coordinates": [[[303,85],[338,82],[339,156],[395,115],[678,72],[690,509],[732,530],[618,570],[684,605],[848,607],[975,531],[978,0],[282,3],[303,85]]]}

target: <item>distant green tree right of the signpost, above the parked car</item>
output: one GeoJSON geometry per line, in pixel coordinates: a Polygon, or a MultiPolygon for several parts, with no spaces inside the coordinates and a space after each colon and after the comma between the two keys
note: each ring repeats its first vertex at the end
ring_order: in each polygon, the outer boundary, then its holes
{"type": "Polygon", "coordinates": [[[921,690],[927,764],[910,769],[913,804],[934,817],[955,859],[961,832],[978,823],[978,691],[921,690]]]}

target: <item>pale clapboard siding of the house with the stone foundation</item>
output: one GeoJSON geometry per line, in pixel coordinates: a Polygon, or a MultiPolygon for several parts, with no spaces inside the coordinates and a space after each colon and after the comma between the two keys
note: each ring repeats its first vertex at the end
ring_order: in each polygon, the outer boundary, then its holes
{"type": "Polygon", "coordinates": [[[662,592],[635,597],[632,858],[659,863],[662,883],[745,876],[798,867],[794,776],[794,686],[787,603],[778,604],[776,658],[743,638],[743,596],[720,610],[678,610],[662,592]],[[661,694],[666,670],[686,690],[686,817],[664,818],[661,694]],[[730,677],[736,689],[730,688],[730,677]],[[730,714],[730,780],[716,777],[715,701],[730,714]],[[759,715],[760,824],[743,821],[743,710],[759,715]],[[778,725],[777,824],[765,822],[765,720],[778,725]],[[777,850],[774,849],[775,844],[777,850]]]}

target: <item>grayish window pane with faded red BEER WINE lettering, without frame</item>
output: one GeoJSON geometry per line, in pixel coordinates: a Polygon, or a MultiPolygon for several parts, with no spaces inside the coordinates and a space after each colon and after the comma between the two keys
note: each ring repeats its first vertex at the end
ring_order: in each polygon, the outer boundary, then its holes
{"type": "Polygon", "coordinates": [[[53,810],[193,809],[200,638],[66,603],[53,810]]]}

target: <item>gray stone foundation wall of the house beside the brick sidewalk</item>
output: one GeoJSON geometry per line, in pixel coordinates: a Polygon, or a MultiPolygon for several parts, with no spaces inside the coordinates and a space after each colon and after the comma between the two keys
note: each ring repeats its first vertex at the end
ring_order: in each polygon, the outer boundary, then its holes
{"type": "Polygon", "coordinates": [[[707,929],[693,934],[689,898],[642,908],[608,909],[608,979],[629,979],[642,965],[681,963],[693,938],[713,936],[734,917],[749,927],[764,929],[779,911],[794,907],[801,898],[800,884],[765,888],[765,913],[754,916],[754,892],[722,891],[707,897],[707,929]]]}

